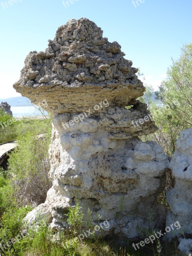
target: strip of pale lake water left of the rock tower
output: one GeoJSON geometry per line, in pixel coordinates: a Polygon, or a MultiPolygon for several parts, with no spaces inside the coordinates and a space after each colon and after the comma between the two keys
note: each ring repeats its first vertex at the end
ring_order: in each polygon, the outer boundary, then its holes
{"type": "Polygon", "coordinates": [[[11,107],[11,111],[13,112],[13,116],[42,116],[41,112],[39,112],[33,106],[26,107],[11,107]]]}

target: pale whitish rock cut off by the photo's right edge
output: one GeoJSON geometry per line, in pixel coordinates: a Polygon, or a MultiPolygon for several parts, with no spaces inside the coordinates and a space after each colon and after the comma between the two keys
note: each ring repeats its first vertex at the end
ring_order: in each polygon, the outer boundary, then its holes
{"type": "Polygon", "coordinates": [[[166,218],[169,226],[179,221],[181,229],[167,233],[171,240],[175,236],[192,236],[192,128],[183,130],[177,140],[176,151],[169,168],[175,176],[175,187],[167,192],[171,207],[166,218]]]}

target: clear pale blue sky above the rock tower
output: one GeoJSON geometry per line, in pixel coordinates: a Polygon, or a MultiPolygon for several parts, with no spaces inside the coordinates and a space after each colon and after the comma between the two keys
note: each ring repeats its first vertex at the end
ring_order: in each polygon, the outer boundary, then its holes
{"type": "Polygon", "coordinates": [[[0,98],[20,96],[12,84],[26,55],[44,50],[58,26],[81,17],[117,41],[155,89],[171,57],[178,58],[182,45],[192,42],[191,0],[138,0],[138,5],[136,0],[0,0],[0,98]]]}

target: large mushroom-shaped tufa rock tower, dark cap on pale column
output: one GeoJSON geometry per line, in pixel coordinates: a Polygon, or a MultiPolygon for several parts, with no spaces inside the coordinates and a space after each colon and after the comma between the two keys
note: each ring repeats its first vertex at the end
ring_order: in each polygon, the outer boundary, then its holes
{"type": "Polygon", "coordinates": [[[28,221],[40,211],[53,229],[67,230],[65,213],[80,200],[85,218],[89,208],[95,223],[98,215],[109,221],[110,232],[104,234],[121,230],[129,238],[140,236],[151,208],[154,226],[163,223],[164,209],[155,200],[169,161],[157,143],[137,137],[157,127],[151,119],[133,125],[150,113],[136,100],[145,88],[124,55],[117,42],[102,38],[95,23],[81,18],[58,28],[45,52],[27,56],[14,87],[33,103],[46,101],[45,109],[54,114],[49,148],[53,186],[28,221]],[[78,121],[86,111],[88,116],[78,121]]]}

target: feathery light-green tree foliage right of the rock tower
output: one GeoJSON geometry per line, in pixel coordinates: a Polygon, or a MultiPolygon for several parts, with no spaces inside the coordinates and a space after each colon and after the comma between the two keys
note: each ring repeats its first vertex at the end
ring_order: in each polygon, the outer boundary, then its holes
{"type": "MultiPolygon", "coordinates": [[[[151,93],[152,88],[147,87],[142,97],[145,103],[150,102],[151,93]]],[[[177,60],[172,59],[167,78],[155,95],[163,105],[150,103],[149,109],[159,130],[143,137],[143,140],[157,141],[172,157],[180,132],[192,127],[192,44],[183,47],[177,60]]]]}

